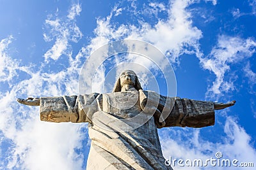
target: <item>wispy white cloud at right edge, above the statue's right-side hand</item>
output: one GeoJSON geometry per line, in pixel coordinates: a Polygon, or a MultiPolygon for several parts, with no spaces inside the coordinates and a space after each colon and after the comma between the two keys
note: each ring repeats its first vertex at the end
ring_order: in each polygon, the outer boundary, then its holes
{"type": "Polygon", "coordinates": [[[207,96],[220,97],[223,92],[234,90],[234,80],[230,80],[232,73],[228,72],[230,66],[252,57],[255,47],[256,42],[251,38],[219,36],[218,43],[212,48],[211,53],[207,57],[199,57],[202,67],[216,75],[207,96]]]}

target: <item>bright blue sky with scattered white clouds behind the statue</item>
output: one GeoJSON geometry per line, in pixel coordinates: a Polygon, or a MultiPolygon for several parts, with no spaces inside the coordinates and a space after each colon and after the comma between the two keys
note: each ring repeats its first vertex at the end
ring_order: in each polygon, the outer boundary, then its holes
{"type": "MultiPolygon", "coordinates": [[[[78,94],[88,56],[124,38],[147,41],[166,55],[177,96],[237,101],[216,111],[212,127],[160,129],[164,157],[209,159],[221,152],[256,166],[255,0],[0,2],[0,169],[86,167],[87,124],[40,122],[39,108],[16,98],[78,94]]],[[[121,58],[111,62],[125,63],[121,58]]],[[[109,66],[100,67],[95,91],[102,92],[109,66]]],[[[145,87],[147,74],[131,69],[145,87]]]]}

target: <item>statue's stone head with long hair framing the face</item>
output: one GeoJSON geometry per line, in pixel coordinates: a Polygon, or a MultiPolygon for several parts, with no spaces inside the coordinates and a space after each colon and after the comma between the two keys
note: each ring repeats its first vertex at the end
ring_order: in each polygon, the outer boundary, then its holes
{"type": "Polygon", "coordinates": [[[122,71],[118,80],[116,80],[113,92],[121,92],[124,85],[132,85],[136,90],[142,89],[138,76],[132,70],[122,71]]]}

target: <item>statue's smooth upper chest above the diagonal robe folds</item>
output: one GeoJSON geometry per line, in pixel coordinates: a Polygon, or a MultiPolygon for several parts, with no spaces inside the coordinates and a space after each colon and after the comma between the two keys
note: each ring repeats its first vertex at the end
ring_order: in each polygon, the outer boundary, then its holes
{"type": "Polygon", "coordinates": [[[138,91],[103,94],[102,111],[120,118],[131,118],[142,110],[138,91]]]}

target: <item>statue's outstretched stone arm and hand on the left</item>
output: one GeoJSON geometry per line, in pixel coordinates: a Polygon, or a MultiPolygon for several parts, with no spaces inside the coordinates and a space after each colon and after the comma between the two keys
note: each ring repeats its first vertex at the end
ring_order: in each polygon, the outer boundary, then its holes
{"type": "Polygon", "coordinates": [[[91,115],[97,111],[99,94],[59,97],[28,97],[17,99],[21,104],[40,106],[40,120],[46,122],[90,122],[91,115]],[[90,118],[88,117],[90,115],[90,118]]]}

